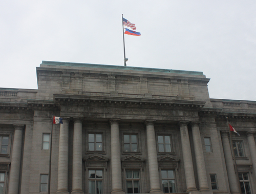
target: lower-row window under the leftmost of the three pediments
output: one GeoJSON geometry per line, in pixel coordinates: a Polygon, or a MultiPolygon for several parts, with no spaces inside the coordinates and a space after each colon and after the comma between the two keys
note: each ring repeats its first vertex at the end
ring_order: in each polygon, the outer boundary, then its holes
{"type": "Polygon", "coordinates": [[[89,193],[90,194],[101,194],[103,193],[103,170],[88,170],[89,172],[89,193]]]}

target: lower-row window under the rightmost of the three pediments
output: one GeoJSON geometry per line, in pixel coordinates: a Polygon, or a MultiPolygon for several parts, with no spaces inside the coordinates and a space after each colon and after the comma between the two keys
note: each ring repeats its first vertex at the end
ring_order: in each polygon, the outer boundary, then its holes
{"type": "Polygon", "coordinates": [[[164,193],[176,192],[174,170],[161,170],[164,193]]]}

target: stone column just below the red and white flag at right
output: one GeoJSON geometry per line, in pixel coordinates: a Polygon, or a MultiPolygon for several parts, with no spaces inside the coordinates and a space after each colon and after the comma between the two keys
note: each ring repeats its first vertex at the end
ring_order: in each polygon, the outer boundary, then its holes
{"type": "Polygon", "coordinates": [[[221,137],[222,137],[222,145],[223,145],[224,157],[225,157],[226,167],[227,167],[228,183],[229,183],[230,192],[234,194],[239,194],[240,188],[239,188],[236,172],[234,171],[233,158],[232,158],[230,143],[229,143],[227,134],[228,132],[222,133],[221,137]]]}

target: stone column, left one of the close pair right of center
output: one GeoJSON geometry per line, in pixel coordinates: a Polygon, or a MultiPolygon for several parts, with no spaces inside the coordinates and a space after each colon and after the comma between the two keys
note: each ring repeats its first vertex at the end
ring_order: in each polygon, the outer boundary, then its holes
{"type": "Polygon", "coordinates": [[[189,191],[196,191],[197,188],[196,188],[196,182],[195,182],[195,174],[194,174],[189,136],[187,131],[187,124],[188,122],[179,123],[183,162],[184,162],[184,169],[185,169],[185,178],[186,178],[186,185],[187,185],[186,192],[189,192],[189,191]]]}

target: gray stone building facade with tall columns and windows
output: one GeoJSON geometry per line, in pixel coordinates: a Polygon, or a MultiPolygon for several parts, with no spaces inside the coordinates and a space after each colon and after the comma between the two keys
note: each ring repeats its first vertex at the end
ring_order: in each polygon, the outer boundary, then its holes
{"type": "Polygon", "coordinates": [[[37,90],[0,88],[0,193],[47,193],[51,143],[50,193],[256,192],[256,101],[210,99],[202,72],[36,73],[37,90]]]}

